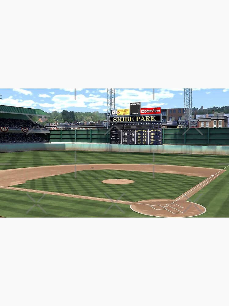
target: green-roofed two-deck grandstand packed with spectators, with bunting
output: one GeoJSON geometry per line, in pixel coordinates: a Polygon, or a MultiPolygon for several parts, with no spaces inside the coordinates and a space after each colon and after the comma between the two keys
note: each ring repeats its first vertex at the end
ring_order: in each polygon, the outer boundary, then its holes
{"type": "Polygon", "coordinates": [[[48,117],[35,108],[0,105],[0,143],[49,142],[50,131],[31,117],[48,117]]]}

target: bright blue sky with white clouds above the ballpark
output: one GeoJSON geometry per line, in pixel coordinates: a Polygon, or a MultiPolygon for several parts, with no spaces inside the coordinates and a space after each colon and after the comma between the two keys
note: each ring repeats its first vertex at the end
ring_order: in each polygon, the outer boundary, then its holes
{"type": "MultiPolygon", "coordinates": [[[[192,106],[196,108],[229,105],[229,88],[193,88],[192,106]]],[[[42,109],[45,112],[107,111],[106,88],[8,88],[0,89],[1,105],[42,109]]],[[[141,107],[175,108],[184,105],[183,88],[115,88],[115,109],[129,108],[130,102],[141,107]]]]}

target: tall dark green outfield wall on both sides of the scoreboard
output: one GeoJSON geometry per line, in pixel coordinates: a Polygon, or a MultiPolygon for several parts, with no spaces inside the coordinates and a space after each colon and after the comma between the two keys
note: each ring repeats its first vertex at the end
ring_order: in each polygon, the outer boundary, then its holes
{"type": "MultiPolygon", "coordinates": [[[[50,142],[108,143],[107,130],[52,130],[50,142]]],[[[229,128],[162,129],[163,144],[229,145],[229,128]]]]}

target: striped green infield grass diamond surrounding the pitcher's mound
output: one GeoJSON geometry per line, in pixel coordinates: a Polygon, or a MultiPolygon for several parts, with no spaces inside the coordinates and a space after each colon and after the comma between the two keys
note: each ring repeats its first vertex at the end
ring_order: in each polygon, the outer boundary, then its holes
{"type": "Polygon", "coordinates": [[[124,170],[83,170],[38,178],[13,187],[94,196],[137,202],[148,199],[175,199],[202,182],[204,177],[182,174],[151,173],[124,170]],[[126,185],[104,184],[103,180],[122,178],[133,180],[126,185]],[[184,184],[185,181],[185,184],[184,184]],[[169,182],[169,185],[167,185],[169,182]],[[106,196],[107,194],[107,196],[106,196]]]}

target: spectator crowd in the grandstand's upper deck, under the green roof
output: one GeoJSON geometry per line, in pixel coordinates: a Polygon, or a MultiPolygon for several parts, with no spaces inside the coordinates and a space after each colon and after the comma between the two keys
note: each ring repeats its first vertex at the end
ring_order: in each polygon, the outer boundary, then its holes
{"type": "Polygon", "coordinates": [[[21,128],[32,129],[34,127],[34,129],[46,130],[46,128],[43,125],[33,122],[29,119],[24,120],[24,119],[0,118],[0,126],[10,129],[21,129],[21,128]]]}

